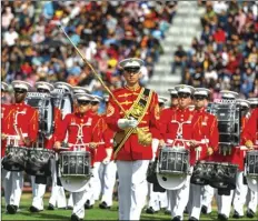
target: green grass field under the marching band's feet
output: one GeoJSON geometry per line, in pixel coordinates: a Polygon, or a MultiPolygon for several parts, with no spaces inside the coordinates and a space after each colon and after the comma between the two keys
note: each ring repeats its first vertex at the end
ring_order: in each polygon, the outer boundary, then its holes
{"type": "MultiPolygon", "coordinates": [[[[48,207],[49,193],[44,197],[44,208],[48,207]]],[[[99,202],[96,203],[95,208],[91,210],[86,210],[85,220],[118,220],[118,203],[115,202],[111,210],[101,210],[98,208],[99,202]]],[[[29,207],[31,205],[31,194],[23,193],[20,204],[20,211],[17,214],[6,214],[4,213],[4,199],[2,198],[1,204],[1,215],[2,220],[63,220],[69,221],[71,215],[71,210],[53,210],[53,211],[41,211],[39,213],[31,213],[29,207]]],[[[216,208],[215,208],[216,209],[216,208]]],[[[171,220],[170,215],[163,214],[163,211],[160,211],[153,215],[147,214],[145,211],[141,213],[141,220],[171,220]]],[[[188,220],[188,215],[185,217],[185,220],[188,220]]],[[[201,215],[200,220],[217,220],[217,212],[214,211],[209,215],[201,215]]],[[[234,220],[234,219],[230,219],[234,220]]],[[[258,213],[256,219],[240,219],[240,220],[258,220],[258,213]]]]}

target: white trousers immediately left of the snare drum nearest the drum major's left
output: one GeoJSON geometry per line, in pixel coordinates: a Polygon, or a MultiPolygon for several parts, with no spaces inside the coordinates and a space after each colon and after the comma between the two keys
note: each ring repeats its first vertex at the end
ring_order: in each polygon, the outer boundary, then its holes
{"type": "Polygon", "coordinates": [[[67,207],[67,198],[62,187],[57,185],[57,165],[56,160],[51,160],[51,169],[52,169],[52,191],[51,197],[49,199],[49,203],[53,207],[66,208],[67,207]]]}

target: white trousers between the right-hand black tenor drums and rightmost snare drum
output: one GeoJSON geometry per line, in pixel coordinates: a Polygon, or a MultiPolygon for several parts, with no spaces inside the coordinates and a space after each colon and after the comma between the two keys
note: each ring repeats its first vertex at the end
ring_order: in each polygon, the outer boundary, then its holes
{"type": "Polygon", "coordinates": [[[244,172],[237,173],[235,197],[232,201],[234,210],[238,212],[239,215],[244,215],[244,205],[246,203],[246,197],[248,187],[244,184],[244,172]]]}

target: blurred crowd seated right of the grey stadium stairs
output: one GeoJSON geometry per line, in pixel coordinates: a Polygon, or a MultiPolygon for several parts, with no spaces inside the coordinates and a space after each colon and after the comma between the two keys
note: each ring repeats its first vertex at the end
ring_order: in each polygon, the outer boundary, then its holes
{"type": "MultiPolygon", "coordinates": [[[[258,97],[257,1],[199,1],[206,8],[200,39],[190,50],[178,49],[183,83],[258,97]]],[[[172,70],[173,72],[175,70],[172,70]]]]}

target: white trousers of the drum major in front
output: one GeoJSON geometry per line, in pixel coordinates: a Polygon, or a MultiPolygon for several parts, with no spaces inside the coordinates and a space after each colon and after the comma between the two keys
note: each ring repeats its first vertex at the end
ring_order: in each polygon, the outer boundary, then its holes
{"type": "Polygon", "coordinates": [[[119,220],[139,220],[146,203],[149,160],[117,161],[119,220]]]}

